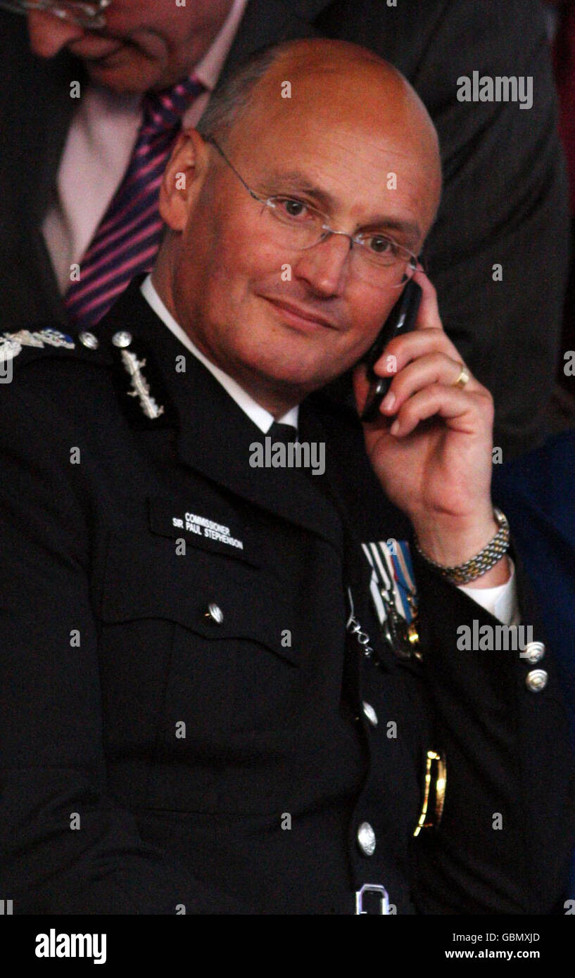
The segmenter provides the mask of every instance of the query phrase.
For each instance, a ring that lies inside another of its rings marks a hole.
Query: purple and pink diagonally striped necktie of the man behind
[[[172,89],[149,93],[129,166],[66,292],[70,323],[98,323],[136,275],[150,272],[163,236],[159,187],[182,115],[204,86],[192,76]]]

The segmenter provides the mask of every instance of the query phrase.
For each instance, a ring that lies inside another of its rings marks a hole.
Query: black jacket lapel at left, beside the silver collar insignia
[[[298,468],[250,465],[252,446],[259,443],[265,447],[265,434],[158,319],[140,292],[142,278],[123,293],[102,320],[98,334],[109,342],[119,330],[132,334],[129,348],[140,360],[144,355],[142,373],[164,414],[157,424],[146,422],[136,398],[123,397],[130,391],[130,378],[121,369],[118,397],[124,410],[134,423],[140,414],[146,427],[173,425],[177,454],[186,466],[244,500],[323,536],[339,549],[339,521],[332,508],[326,507],[322,493],[313,484],[315,479],[306,478]],[[186,370],[178,372],[176,358],[182,355]],[[114,356],[119,361],[121,351],[114,350]]]

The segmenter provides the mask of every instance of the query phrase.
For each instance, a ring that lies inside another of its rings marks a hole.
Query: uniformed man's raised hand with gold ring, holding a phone
[[[422,271],[416,275],[423,289],[416,329],[392,339],[376,361],[378,376],[395,376],[379,418],[364,424],[364,433],[376,476],[409,516],[424,553],[454,565],[498,529],[490,496],[493,399],[473,377],[464,389],[456,386],[462,360],[443,331],[435,289]],[[389,357],[396,371],[386,369]],[[361,410],[369,389],[364,366],[354,373],[354,388]],[[505,583],[508,576],[503,560],[481,583]]]

